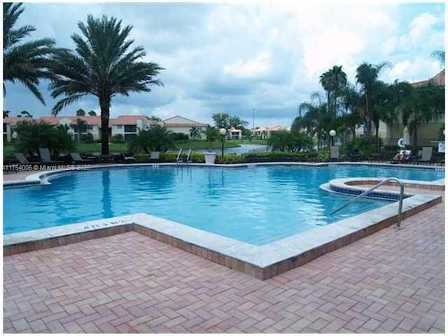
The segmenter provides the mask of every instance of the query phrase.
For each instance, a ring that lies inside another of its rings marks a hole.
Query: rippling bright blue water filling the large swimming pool
[[[344,177],[433,181],[444,172],[372,166],[125,167],[73,172],[50,186],[3,190],[3,233],[144,212],[261,245],[388,204],[319,186]],[[319,218],[319,219],[316,219]]]

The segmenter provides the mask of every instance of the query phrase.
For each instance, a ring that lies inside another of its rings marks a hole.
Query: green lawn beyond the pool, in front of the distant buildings
[[[266,144],[266,140],[228,140],[225,141],[224,147],[225,148],[235,148],[239,147],[240,144]],[[176,144],[176,149],[184,148],[184,149],[198,149],[198,148],[208,148],[207,141],[204,140],[188,140],[188,141],[181,141]],[[219,149],[221,148],[221,141],[215,141],[211,143],[212,149]],[[3,144],[3,158],[11,157],[13,156],[13,153],[15,152],[14,145],[12,144]],[[75,151],[80,153],[101,153],[101,144],[94,143],[94,144],[76,144]],[[109,145],[109,151],[111,153],[123,153],[127,151],[127,144],[110,144]]]

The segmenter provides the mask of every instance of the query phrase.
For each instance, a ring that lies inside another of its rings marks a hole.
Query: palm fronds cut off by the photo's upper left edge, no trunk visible
[[[3,94],[6,94],[5,82],[17,81],[28,87],[45,105],[37,87],[41,79],[51,78],[49,60],[59,49],[50,38],[21,43],[36,30],[32,25],[14,27],[23,10],[22,3],[3,3]]]

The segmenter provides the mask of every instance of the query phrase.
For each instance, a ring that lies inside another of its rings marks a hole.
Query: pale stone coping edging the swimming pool
[[[278,162],[272,163],[279,165]],[[271,165],[272,163],[269,162]],[[284,164],[282,163],[282,165]],[[290,165],[290,162],[286,164]],[[128,166],[130,165],[113,165],[113,167]],[[142,165],[137,166],[141,167]],[[246,167],[248,165],[233,166]],[[394,166],[396,167],[396,165]],[[108,165],[101,168],[105,167],[112,166]],[[229,167],[229,165],[213,165],[213,167]],[[65,172],[50,172],[50,174],[48,172],[40,172],[33,174],[27,182],[34,182],[37,178],[39,183],[49,183],[48,178],[50,176],[64,174]],[[338,179],[336,183],[342,183],[344,186],[348,186],[347,183],[350,182],[363,182],[368,184],[369,181],[372,182],[374,180],[374,178]],[[411,182],[414,185],[420,184],[417,181]],[[437,186],[437,188],[443,186],[444,188],[444,179],[421,184],[422,188],[428,188],[430,186]],[[351,188],[365,190],[362,187]],[[440,195],[409,195],[403,201],[402,218],[412,216],[440,202],[442,202]],[[200,255],[221,265],[251,274],[258,279],[269,279],[272,276],[303,265],[320,255],[350,244],[353,241],[395,223],[397,221],[397,208],[398,204],[394,202],[363,214],[346,218],[342,221],[323,226],[316,225],[316,229],[314,230],[302,232],[261,246],[223,237],[149,214],[132,214],[3,235],[3,255],[62,246],[87,239],[136,231],[142,235],[182,248],[185,251]],[[310,220],[313,220],[313,218],[310,218]]]

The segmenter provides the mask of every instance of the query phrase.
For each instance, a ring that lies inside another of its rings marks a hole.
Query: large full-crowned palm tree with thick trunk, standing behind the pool
[[[130,50],[133,40],[127,39],[131,26],[122,27],[116,18],[87,16],[87,24],[78,22],[82,36],[73,34],[75,51],[65,51],[54,57],[50,88],[52,97],[63,97],[52,113],[87,94],[96,96],[101,109],[102,154],[109,154],[109,113],[111,99],[118,94],[151,92],[152,85],[162,85],[155,77],[161,68],[153,62],[142,62],[144,48]]]

